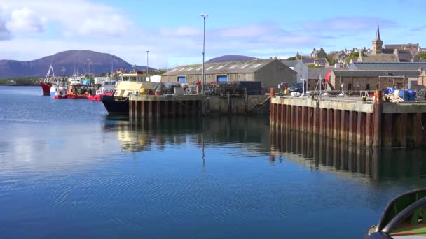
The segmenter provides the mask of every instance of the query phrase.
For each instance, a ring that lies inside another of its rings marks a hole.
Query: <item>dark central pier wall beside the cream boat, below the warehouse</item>
[[[202,115],[243,115],[268,113],[269,96],[175,96],[131,95],[129,116],[132,120],[148,118],[185,118]]]

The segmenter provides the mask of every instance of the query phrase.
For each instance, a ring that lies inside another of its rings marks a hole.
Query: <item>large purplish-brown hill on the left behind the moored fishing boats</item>
[[[90,73],[95,74],[109,73],[111,72],[111,67],[114,67],[114,71],[117,68],[125,68],[127,70],[132,68],[132,64],[108,53],[91,50],[68,50],[33,61],[0,60],[0,79],[44,77],[50,64],[53,66],[55,75],[62,75],[62,67],[65,75],[72,75],[74,68],[78,73],[88,73],[89,63]],[[145,70],[146,66],[136,66],[136,68],[137,70]],[[153,71],[155,69],[150,67],[149,70]]]

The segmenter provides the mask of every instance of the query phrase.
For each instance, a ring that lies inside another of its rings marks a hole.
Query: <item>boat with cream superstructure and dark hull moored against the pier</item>
[[[109,114],[128,114],[129,96],[140,94],[141,89],[152,89],[153,84],[141,71],[133,73],[120,73],[121,80],[117,82],[112,95],[103,94],[101,101]]]

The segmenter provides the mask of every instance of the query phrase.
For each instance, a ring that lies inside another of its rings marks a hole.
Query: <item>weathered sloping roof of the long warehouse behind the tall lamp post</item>
[[[221,73],[254,73],[275,59],[255,59],[252,61],[231,61],[220,63],[206,63],[205,74]],[[284,64],[283,64],[284,65]],[[163,75],[198,75],[202,74],[202,64],[177,66]]]

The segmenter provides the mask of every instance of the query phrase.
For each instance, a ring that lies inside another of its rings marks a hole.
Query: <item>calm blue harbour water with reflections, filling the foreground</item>
[[[134,124],[39,87],[0,87],[0,132],[0,238],[362,238],[426,186],[425,150],[257,117]]]

